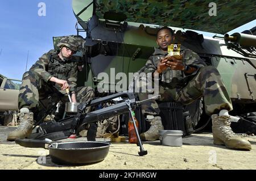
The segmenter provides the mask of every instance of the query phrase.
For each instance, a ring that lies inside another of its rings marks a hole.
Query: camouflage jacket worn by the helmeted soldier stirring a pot
[[[30,71],[38,74],[45,82],[50,83],[57,90],[60,90],[60,86],[55,82],[49,81],[51,77],[63,79],[68,82],[69,90],[76,91],[77,81],[77,64],[71,58],[68,61],[63,61],[58,56],[59,51],[50,50],[48,53],[44,53],[38,61],[30,68]]]

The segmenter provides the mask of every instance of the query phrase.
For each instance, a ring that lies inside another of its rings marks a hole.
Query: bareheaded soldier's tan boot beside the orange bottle
[[[150,129],[148,129],[148,131],[146,131],[144,133],[141,133],[139,135],[139,137],[141,137],[141,139],[144,141],[159,140],[158,131],[164,129],[161,117],[147,115],[146,120],[150,122]]]

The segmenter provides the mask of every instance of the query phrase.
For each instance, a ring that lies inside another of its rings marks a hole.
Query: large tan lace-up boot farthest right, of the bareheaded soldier
[[[212,115],[213,144],[225,145],[230,149],[250,150],[250,142],[237,136],[232,131],[230,124],[228,111],[221,110],[219,115]]]

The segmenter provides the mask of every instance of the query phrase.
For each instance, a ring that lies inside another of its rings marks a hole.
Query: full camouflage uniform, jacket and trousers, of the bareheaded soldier
[[[217,113],[222,109],[231,111],[233,109],[232,102],[218,70],[213,66],[205,66],[204,61],[192,50],[181,46],[180,53],[183,54],[184,64],[197,70],[192,74],[185,74],[184,71],[171,70],[170,68],[163,71],[159,83],[160,100],[181,102],[187,105],[203,96],[205,112],[208,115]],[[163,50],[155,48],[155,52],[146,62],[146,65],[139,70],[139,73],[153,73],[160,58],[167,56],[167,54]],[[141,86],[146,86],[145,82],[140,83]],[[147,93],[139,94],[141,100],[147,97]],[[158,115],[160,112],[155,101],[144,103],[142,111],[149,115]]]

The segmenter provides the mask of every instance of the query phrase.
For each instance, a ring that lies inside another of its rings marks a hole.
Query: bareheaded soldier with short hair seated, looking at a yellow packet
[[[233,109],[232,102],[218,70],[213,66],[206,66],[195,52],[182,45],[180,60],[167,56],[168,45],[174,42],[174,31],[171,28],[160,28],[156,35],[159,48],[155,48],[155,52],[138,73],[152,73],[153,80],[154,77],[159,77],[160,100],[187,105],[203,97],[205,112],[212,115],[213,143],[231,149],[250,150],[250,142],[238,137],[230,128],[228,111]],[[141,86],[146,86],[146,82],[140,83]],[[148,94],[140,92],[139,98],[147,99]],[[141,133],[140,137],[146,141],[158,140],[158,131],[163,129],[158,104],[155,101],[144,103],[142,112],[151,127],[147,132]]]

